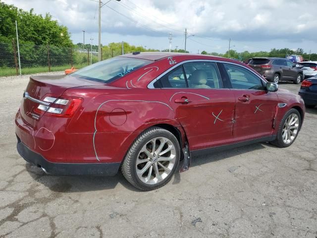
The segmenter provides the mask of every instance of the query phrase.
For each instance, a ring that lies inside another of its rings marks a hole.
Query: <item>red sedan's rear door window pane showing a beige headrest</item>
[[[190,88],[222,88],[217,65],[214,62],[183,64]]]

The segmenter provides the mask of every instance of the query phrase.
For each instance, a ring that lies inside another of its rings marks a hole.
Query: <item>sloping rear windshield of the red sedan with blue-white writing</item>
[[[79,69],[73,72],[71,76],[110,83],[151,62],[151,60],[116,57]]]

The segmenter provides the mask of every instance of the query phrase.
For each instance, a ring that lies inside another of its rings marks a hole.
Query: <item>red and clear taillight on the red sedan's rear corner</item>
[[[51,103],[50,106],[40,104],[34,111],[45,116],[52,117],[72,117],[79,106],[82,104],[83,99],[72,97],[54,97],[53,95],[47,96],[44,102]]]

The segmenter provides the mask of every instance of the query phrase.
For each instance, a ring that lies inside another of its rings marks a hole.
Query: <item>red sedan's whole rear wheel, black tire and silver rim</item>
[[[180,146],[176,137],[160,127],[142,132],[127,152],[121,171],[125,179],[141,190],[165,185],[178,167]]]

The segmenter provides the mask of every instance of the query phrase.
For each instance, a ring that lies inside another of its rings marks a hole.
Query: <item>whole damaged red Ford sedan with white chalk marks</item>
[[[290,146],[300,96],[235,60],[133,53],[70,75],[32,76],[15,118],[17,150],[52,175],[167,183],[182,160],[255,142]]]

